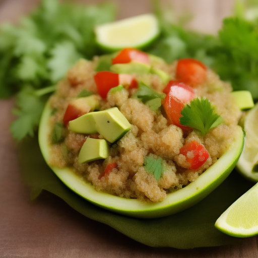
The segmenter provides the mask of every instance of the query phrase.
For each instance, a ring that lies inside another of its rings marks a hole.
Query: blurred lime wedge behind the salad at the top
[[[106,51],[125,47],[144,48],[159,35],[157,18],[152,14],[135,16],[95,28],[96,41]]]

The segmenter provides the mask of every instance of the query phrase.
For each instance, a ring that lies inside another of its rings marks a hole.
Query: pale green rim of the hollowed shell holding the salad
[[[39,146],[47,163],[49,160],[50,134],[49,117],[51,109],[47,103],[39,124]],[[194,182],[175,192],[168,193],[161,203],[143,203],[136,199],[125,199],[96,191],[95,188],[76,175],[71,168],[49,166],[59,179],[87,201],[104,209],[138,218],[158,218],[180,212],[204,199],[235,167],[242,152],[244,134],[239,126],[230,149],[220,159],[200,175]]]

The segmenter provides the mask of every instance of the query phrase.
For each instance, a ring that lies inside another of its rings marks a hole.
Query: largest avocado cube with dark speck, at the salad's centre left
[[[98,133],[110,143],[122,138],[131,130],[130,122],[117,107],[94,112],[94,119]]]

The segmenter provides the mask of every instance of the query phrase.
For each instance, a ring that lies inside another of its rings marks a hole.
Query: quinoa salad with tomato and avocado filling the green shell
[[[229,83],[194,59],[167,64],[137,49],[80,59],[49,100],[48,164],[72,168],[96,191],[162,202],[230,148],[241,117],[231,92]],[[211,107],[208,118],[217,115],[205,132],[191,126],[195,117],[186,121],[194,104]],[[122,120],[114,118],[118,136],[103,125],[106,111]],[[103,115],[100,121],[95,114]],[[83,117],[95,119],[97,129],[77,130]],[[97,147],[85,147],[89,140]],[[95,158],[85,157],[95,151]]]

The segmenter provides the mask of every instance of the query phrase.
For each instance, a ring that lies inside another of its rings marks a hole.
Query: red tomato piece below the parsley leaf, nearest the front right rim
[[[200,168],[209,158],[209,152],[197,141],[191,141],[180,149],[180,154],[186,157],[186,161],[190,163],[190,169]]]

